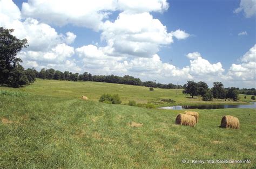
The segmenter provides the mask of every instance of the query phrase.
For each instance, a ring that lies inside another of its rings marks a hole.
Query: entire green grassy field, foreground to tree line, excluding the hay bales
[[[159,98],[201,102],[176,95],[175,90],[151,92],[137,86],[46,80],[22,89],[0,90],[12,90],[0,94],[1,168],[256,167],[254,109],[196,110],[199,123],[192,128],[174,124],[181,110],[95,102],[102,93],[118,93],[124,102]],[[81,95],[91,100],[78,99]],[[238,117],[241,128],[219,128],[224,115]],[[190,163],[183,164],[182,159]],[[205,163],[248,159],[251,163],[192,164],[198,159]]]

